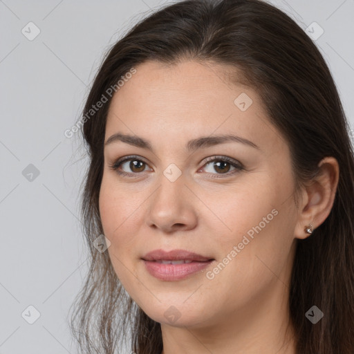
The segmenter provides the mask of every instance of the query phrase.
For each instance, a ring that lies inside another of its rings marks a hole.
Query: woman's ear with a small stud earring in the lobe
[[[306,239],[310,236],[304,231],[306,225],[319,227],[333,207],[339,180],[339,165],[335,158],[326,157],[319,162],[319,173],[302,192],[299,215],[295,226],[295,238]]]

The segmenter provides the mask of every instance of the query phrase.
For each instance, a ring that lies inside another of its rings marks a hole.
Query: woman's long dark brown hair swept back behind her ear
[[[83,115],[131,68],[147,60],[176,64],[181,59],[232,65],[242,73],[243,82],[259,93],[270,122],[288,142],[295,192],[317,174],[322,158],[333,156],[339,162],[339,183],[328,218],[308,239],[297,240],[290,320],[297,354],[353,354],[353,147],[324,58],[295,21],[263,1],[180,1],[142,19],[109,50]],[[103,234],[98,198],[110,102],[111,98],[82,125],[90,158],[82,219],[91,266],[74,304],[71,329],[85,354],[120,353],[122,339],[129,336],[135,353],[160,354],[160,324],[122,288],[108,252],[93,247]],[[296,201],[296,193],[294,197]],[[313,305],[324,313],[317,324],[305,316]]]

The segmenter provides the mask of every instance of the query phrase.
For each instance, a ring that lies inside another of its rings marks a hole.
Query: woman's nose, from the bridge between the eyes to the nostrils
[[[183,174],[174,182],[161,174],[159,182],[156,192],[148,199],[147,225],[166,233],[196,227],[198,198],[186,185]]]

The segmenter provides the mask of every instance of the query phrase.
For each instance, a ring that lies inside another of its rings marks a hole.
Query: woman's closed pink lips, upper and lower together
[[[181,264],[164,264],[158,261],[191,261]],[[210,257],[204,257],[201,254],[188,252],[186,250],[172,250],[169,252],[155,250],[142,257],[147,271],[157,279],[165,281],[178,281],[185,279],[190,275],[200,272],[214,261]]]

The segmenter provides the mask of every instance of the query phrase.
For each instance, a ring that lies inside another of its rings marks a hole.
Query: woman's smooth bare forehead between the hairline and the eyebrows
[[[261,145],[280,134],[265,115],[252,87],[233,82],[235,68],[193,61],[145,62],[113,95],[106,138],[117,131],[180,139],[237,133]],[[281,143],[281,142],[278,142]]]

